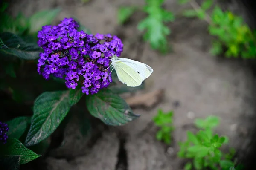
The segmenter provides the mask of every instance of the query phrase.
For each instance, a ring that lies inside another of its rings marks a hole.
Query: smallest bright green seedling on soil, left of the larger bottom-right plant
[[[157,131],[156,138],[166,144],[171,144],[171,133],[174,130],[172,116],[172,111],[164,113],[163,110],[159,109],[157,115],[153,118],[156,126],[160,127],[160,130]]]

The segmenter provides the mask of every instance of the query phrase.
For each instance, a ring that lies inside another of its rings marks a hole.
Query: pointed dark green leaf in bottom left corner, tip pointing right
[[[0,150],[0,156],[20,156],[20,164],[26,164],[41,156],[27,149],[15,138],[9,138],[6,144],[0,144]]]

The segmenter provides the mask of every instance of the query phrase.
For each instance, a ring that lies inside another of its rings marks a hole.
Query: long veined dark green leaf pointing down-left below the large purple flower
[[[34,115],[25,145],[32,146],[47,138],[70,110],[69,90],[44,92],[35,100]]]

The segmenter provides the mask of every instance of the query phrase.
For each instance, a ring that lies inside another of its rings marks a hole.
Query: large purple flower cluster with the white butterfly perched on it
[[[50,75],[65,78],[71,89],[80,83],[83,93],[95,94],[112,82],[109,57],[111,53],[120,56],[123,44],[116,36],[88,35],[78,27],[73,18],[64,18],[58,26],[42,27],[38,46],[44,53],[38,59],[38,73],[45,79]]]

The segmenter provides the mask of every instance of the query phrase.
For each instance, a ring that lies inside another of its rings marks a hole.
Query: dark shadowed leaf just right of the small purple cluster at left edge
[[[6,124],[8,124],[9,127],[8,137],[19,139],[20,136],[25,132],[26,128],[29,126],[30,120],[30,117],[22,116],[7,121]]]

